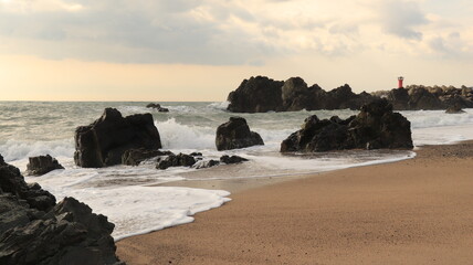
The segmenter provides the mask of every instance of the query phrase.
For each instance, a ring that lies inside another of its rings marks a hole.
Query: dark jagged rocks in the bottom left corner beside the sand
[[[73,198],[56,204],[0,156],[0,264],[124,264],[113,230],[106,216]]]

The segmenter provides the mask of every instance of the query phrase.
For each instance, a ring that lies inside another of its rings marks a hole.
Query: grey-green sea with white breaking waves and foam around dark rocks
[[[145,102],[0,102],[0,153],[22,172],[28,158],[51,155],[65,167],[42,177],[25,177],[38,182],[57,200],[74,197],[95,213],[108,216],[116,241],[193,221],[197,212],[221,206],[231,200],[223,190],[159,187],[174,181],[209,181],[253,178],[294,178],[324,171],[410,159],[424,145],[445,145],[473,139],[473,109],[463,114],[443,110],[400,112],[411,121],[414,150],[354,150],[313,155],[278,152],[281,141],[298,130],[311,115],[319,118],[347,118],[358,112],[315,110],[261,114],[227,112],[227,102],[162,102],[169,113],[146,108]],[[117,108],[124,116],[151,113],[162,149],[175,153],[202,152],[206,160],[222,155],[249,159],[240,165],[208,169],[170,168],[158,170],[153,160],[137,167],[115,166],[84,169],[74,165],[74,131],[101,117],[104,108]],[[217,127],[231,116],[244,117],[263,138],[264,146],[218,151]],[[170,187],[168,187],[170,186]]]

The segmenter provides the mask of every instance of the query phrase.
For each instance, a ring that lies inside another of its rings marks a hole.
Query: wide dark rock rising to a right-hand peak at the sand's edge
[[[343,149],[412,149],[410,123],[392,113],[387,99],[364,105],[357,116],[305,119],[302,129],[281,144],[281,152],[317,152]]]

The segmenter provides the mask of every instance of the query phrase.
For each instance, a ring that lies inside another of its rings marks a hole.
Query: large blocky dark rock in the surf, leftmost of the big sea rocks
[[[129,149],[161,148],[151,114],[122,117],[115,108],[106,108],[101,118],[75,130],[74,161],[83,168],[102,168],[122,163]]]

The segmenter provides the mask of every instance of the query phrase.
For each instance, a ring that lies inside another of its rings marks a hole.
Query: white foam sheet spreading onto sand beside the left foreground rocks
[[[108,220],[115,224],[112,234],[115,241],[192,222],[193,214],[230,201],[227,198],[230,193],[219,190],[143,186],[83,188],[81,186],[84,181],[97,176],[98,173],[95,173],[71,182],[65,176],[52,172],[40,178],[27,178],[27,181],[39,182],[59,200],[64,197],[74,197],[88,204],[95,213],[108,216]]]

